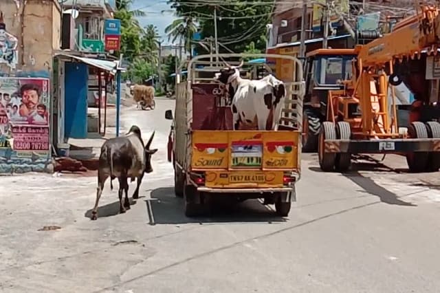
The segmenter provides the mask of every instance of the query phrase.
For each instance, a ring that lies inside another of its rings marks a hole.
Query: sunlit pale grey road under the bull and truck
[[[401,158],[386,159],[392,171],[322,173],[305,154],[288,218],[251,201],[188,219],[166,161],[172,108],[157,98],[154,111],[122,111],[124,129],[155,130],[159,148],[143,197],[125,214],[107,184],[100,217],[89,219],[96,177],[0,177],[1,292],[439,291],[438,174],[400,172]]]

